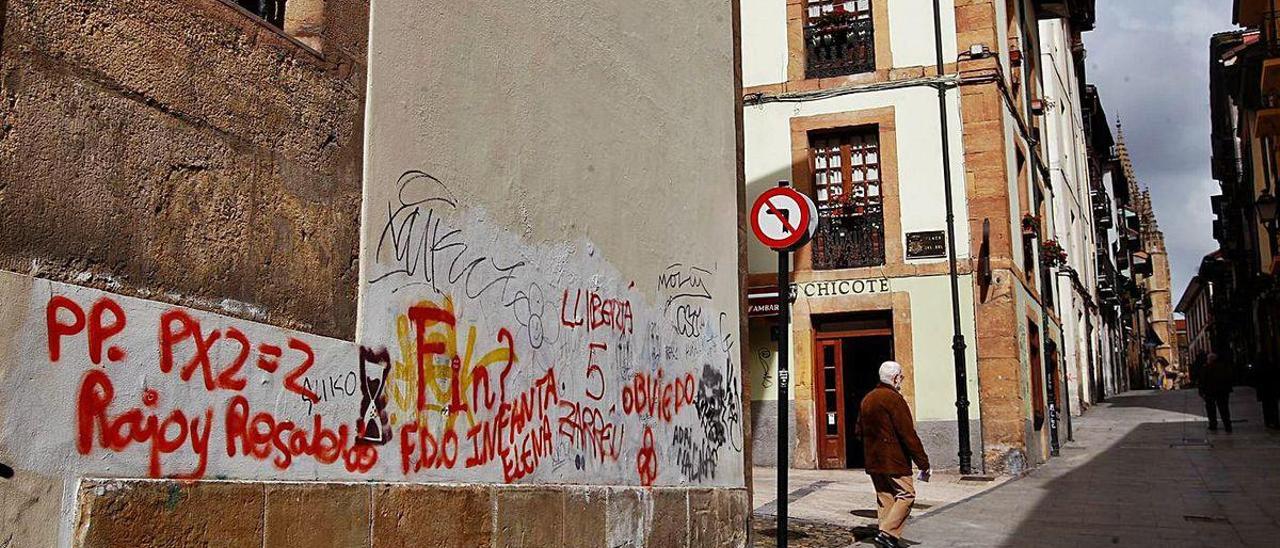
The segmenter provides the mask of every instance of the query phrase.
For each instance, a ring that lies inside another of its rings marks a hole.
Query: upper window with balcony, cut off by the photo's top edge
[[[872,0],[806,0],[805,78],[876,70]]]

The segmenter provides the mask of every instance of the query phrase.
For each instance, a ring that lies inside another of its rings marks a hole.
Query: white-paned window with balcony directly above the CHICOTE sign
[[[809,164],[818,202],[813,268],[884,264],[884,198],[877,127],[812,134]]]

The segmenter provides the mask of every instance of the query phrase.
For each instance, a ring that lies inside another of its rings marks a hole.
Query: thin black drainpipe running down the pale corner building
[[[942,60],[942,6],[933,0],[933,46],[937,54],[937,73],[943,73]],[[960,328],[960,277],[956,273],[956,222],[951,202],[951,131],[947,128],[947,87],[938,83],[938,124],[942,128],[942,189],[947,204],[947,261],[951,278],[951,352],[956,378],[956,431],[960,474],[973,474],[973,451],[969,448],[969,374],[965,364],[964,332]]]

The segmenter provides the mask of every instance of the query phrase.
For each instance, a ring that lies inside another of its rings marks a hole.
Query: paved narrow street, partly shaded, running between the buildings
[[[972,498],[916,512],[905,539],[922,547],[1276,545],[1280,476],[1272,471],[1280,434],[1263,429],[1251,389],[1236,389],[1231,410],[1235,433],[1215,434],[1196,391],[1114,397],[1074,421],[1075,440],[1061,457]],[[803,508],[806,498],[794,504]],[[765,528],[772,520],[758,516],[756,545],[773,544],[762,538]],[[865,538],[868,528],[805,521],[797,529],[806,538],[795,545],[836,547]]]

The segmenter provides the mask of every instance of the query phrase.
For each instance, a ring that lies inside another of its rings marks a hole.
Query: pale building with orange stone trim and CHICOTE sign
[[[1066,183],[1051,165],[1079,161],[1076,128],[1066,125],[1079,120],[1083,78],[1053,82],[1055,108],[1073,113],[1050,131],[1043,67],[1051,51],[1074,67],[1071,44],[1092,27],[1093,3],[943,0],[937,17],[927,0],[742,9],[748,198],[792,181],[820,219],[794,257],[791,333],[771,332],[777,260],[749,250],[754,461],[777,463],[776,341],[790,337],[794,392],[782,399],[794,407],[794,466],[860,466],[856,405],[887,359],[904,366],[904,396],[940,467],[957,466],[961,424],[975,469],[1043,462],[1065,440],[1059,410],[1068,403],[1056,305],[1064,270],[1061,254],[1046,252],[1069,223],[1053,202]],[[1041,23],[1056,19],[1068,24],[1047,28],[1065,46],[1050,47]],[[1070,145],[1051,157],[1048,134]],[[1082,173],[1070,184],[1088,192]],[[1080,262],[1092,260],[1087,241]],[[1062,310],[1079,321],[1079,307]],[[1073,359],[1088,355],[1080,330],[1070,335]]]

